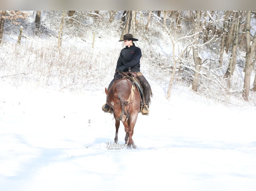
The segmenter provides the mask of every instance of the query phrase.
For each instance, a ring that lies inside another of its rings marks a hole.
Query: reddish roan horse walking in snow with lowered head
[[[114,82],[109,90],[105,88],[105,93],[107,95],[107,102],[113,109],[116,121],[115,143],[118,142],[118,129],[120,121],[122,121],[126,132],[124,140],[127,148],[131,149],[131,146],[136,148],[137,146],[132,139],[132,135],[141,106],[141,96],[137,86],[134,81],[132,82],[128,78],[121,78]]]

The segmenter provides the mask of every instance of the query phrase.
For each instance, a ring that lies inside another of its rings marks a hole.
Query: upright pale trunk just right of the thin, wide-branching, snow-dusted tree
[[[195,24],[194,33],[198,33],[198,34],[196,34],[194,37],[194,39],[195,39],[194,45],[198,45],[198,41],[199,41],[200,19],[201,19],[201,12],[196,11],[196,24]],[[201,64],[202,64],[202,60],[198,55],[198,46],[193,46],[193,58],[194,58],[194,62],[195,62],[196,71],[194,73],[194,78],[193,78],[193,82],[192,82],[192,90],[196,92],[197,88],[198,88],[198,81],[199,81],[199,73],[198,72],[200,72],[200,68],[201,68]]]

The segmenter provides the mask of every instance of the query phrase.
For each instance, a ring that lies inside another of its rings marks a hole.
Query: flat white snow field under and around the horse
[[[255,108],[226,106],[188,88],[170,100],[157,83],[139,114],[137,149],[109,150],[113,115],[102,91],[1,85],[0,187],[45,190],[255,190]],[[124,144],[120,125],[119,143]]]

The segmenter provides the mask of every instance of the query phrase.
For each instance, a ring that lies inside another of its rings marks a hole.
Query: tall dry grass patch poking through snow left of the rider
[[[35,88],[54,86],[59,90],[82,91],[88,83],[98,88],[104,84],[105,75],[112,76],[116,57],[111,51],[100,54],[99,47],[88,48],[81,42],[79,46],[75,42],[58,50],[54,40],[36,38],[22,45],[3,43],[1,79],[16,86],[28,84]]]

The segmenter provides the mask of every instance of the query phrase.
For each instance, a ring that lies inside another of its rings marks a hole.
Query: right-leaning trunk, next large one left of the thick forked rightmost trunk
[[[236,13],[236,24],[235,24],[235,39],[232,45],[232,51],[229,61],[228,69],[224,75],[224,79],[228,79],[228,86],[230,86],[230,79],[233,75],[236,66],[236,57],[237,57],[237,44],[238,44],[238,34],[239,34],[239,12]]]

